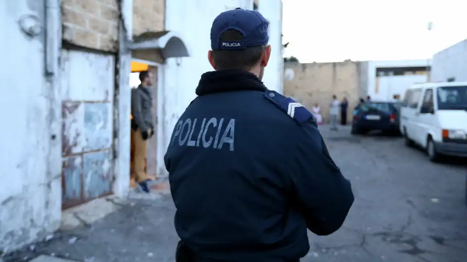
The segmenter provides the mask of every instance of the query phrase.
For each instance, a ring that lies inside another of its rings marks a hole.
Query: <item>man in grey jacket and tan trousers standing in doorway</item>
[[[152,94],[149,88],[151,74],[148,71],[140,73],[141,84],[131,92],[131,139],[134,142],[134,174],[141,189],[149,193],[148,176],[145,171],[147,139],[154,133],[152,115]]]

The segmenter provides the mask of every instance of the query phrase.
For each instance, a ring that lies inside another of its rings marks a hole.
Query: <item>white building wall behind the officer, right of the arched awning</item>
[[[274,0],[276,1],[276,0]],[[280,1],[278,1],[280,2]],[[269,4],[269,2],[268,2]],[[260,4],[261,6],[261,4]],[[265,4],[265,6],[267,6]],[[184,112],[189,103],[196,97],[195,89],[198,85],[201,74],[212,71],[213,68],[208,62],[207,54],[211,49],[210,31],[214,18],[221,12],[237,7],[252,9],[253,0],[170,0],[165,7],[165,28],[168,31],[180,33],[183,41],[187,45],[190,57],[167,59],[164,70],[163,90],[160,91],[158,103],[162,104],[162,110],[158,115],[162,121],[162,132],[158,135],[159,154],[158,165],[161,175],[167,175],[163,162],[163,155],[170,141],[170,136],[175,123]],[[274,8],[278,8],[278,3],[272,3],[266,18],[273,19],[273,14],[280,14]],[[269,16],[269,17],[268,17]],[[196,21],[196,22],[194,22]],[[187,26],[190,25],[190,26]],[[275,20],[271,27],[271,45],[282,44],[279,30],[279,20]],[[275,35],[278,34],[278,35]],[[276,43],[277,42],[277,43]],[[271,55],[268,72],[268,87],[275,87],[281,91],[282,80],[273,79],[274,75],[282,75],[281,65],[278,57],[282,59],[282,51],[276,47],[276,51]]]

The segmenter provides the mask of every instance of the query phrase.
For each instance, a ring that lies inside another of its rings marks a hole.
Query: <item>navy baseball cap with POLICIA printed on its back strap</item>
[[[269,22],[257,11],[241,8],[222,12],[211,27],[211,49],[245,49],[268,44]],[[243,35],[240,41],[222,41],[220,35],[227,30]]]

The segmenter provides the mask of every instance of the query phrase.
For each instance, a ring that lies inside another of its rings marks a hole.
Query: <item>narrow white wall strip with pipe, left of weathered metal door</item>
[[[47,231],[54,231],[60,226],[61,214],[61,174],[62,174],[62,125],[60,95],[59,59],[62,44],[61,0],[45,0],[45,45],[44,89],[47,99],[47,124],[49,128],[49,148],[47,156],[47,172],[44,186],[45,192],[45,225]],[[54,219],[52,221],[52,218]]]

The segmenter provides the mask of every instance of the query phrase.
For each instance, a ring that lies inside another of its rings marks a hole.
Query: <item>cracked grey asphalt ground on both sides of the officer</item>
[[[398,137],[320,129],[356,199],[336,233],[309,233],[302,262],[467,261],[465,159],[433,164]],[[53,254],[83,262],[174,262],[175,208],[169,195],[151,196],[129,199],[103,220],[57,232],[4,261]]]

